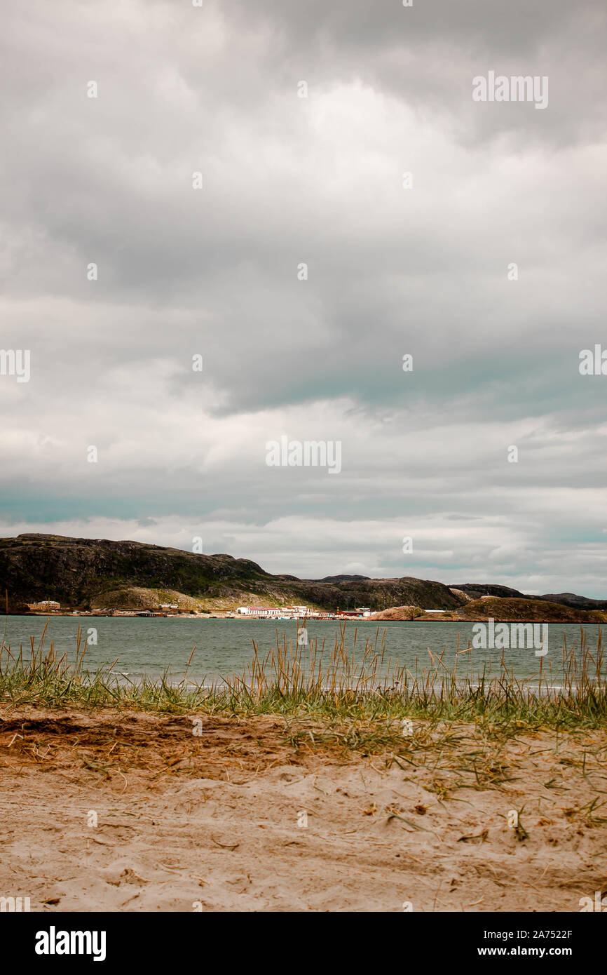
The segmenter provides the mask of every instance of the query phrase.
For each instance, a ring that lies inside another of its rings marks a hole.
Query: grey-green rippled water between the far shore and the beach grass
[[[9,616],[1,624],[2,631],[6,624],[5,643],[11,651],[19,652],[19,643],[23,650],[29,652],[30,637],[34,638],[37,646],[42,636],[46,618],[42,616]],[[281,639],[286,637],[294,644],[296,641],[295,620],[247,620],[247,619],[180,619],[180,618],[133,618],[112,616],[52,616],[49,620],[45,648],[50,648],[51,642],[60,653],[66,651],[69,660],[73,660],[76,648],[78,625],[83,629],[83,643],[87,639],[90,628],[96,630],[97,643],[89,644],[85,656],[89,670],[111,664],[116,657],[118,663],[115,671],[128,675],[135,680],[142,674],[158,677],[167,669],[170,671],[171,681],[179,681],[184,674],[188,658],[194,646],[196,651],[188,678],[203,683],[231,674],[236,671],[242,673],[243,666],[251,659],[252,641],[259,643],[259,653],[266,653],[272,645],[276,645],[277,629]],[[343,624],[342,624],[343,625]],[[446,648],[443,662],[449,669],[455,662],[457,640],[459,635],[460,649],[468,645],[473,638],[473,623],[429,623],[429,622],[384,622],[380,624],[381,635],[386,634],[386,659],[392,657],[400,665],[406,665],[413,672],[416,664],[418,672],[427,668],[431,662],[428,648],[433,653],[440,653]],[[378,629],[377,622],[360,621],[349,622],[346,626],[346,645],[352,649],[357,629],[357,659],[361,657],[365,639],[375,640]],[[588,647],[594,650],[597,643],[599,628],[597,625],[585,627]],[[308,624],[309,638],[318,638],[319,645],[325,641],[325,653],[339,634],[339,624],[334,620],[311,621]],[[551,673],[554,683],[562,664],[562,647],[566,639],[567,646],[580,646],[580,627],[577,625],[550,623],[549,652],[544,657],[545,674]],[[474,649],[473,671],[481,671],[486,665],[492,674],[500,672],[499,649]],[[512,668],[514,676],[530,678],[537,673],[539,659],[533,649],[511,649],[504,651],[505,659]],[[462,675],[466,672],[469,654],[459,657],[458,671]]]

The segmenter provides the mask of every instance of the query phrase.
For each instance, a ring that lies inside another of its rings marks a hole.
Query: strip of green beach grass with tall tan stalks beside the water
[[[585,631],[580,643],[564,643],[557,675],[544,657],[537,673],[517,678],[502,656],[499,671],[474,670],[470,645],[456,648],[447,668],[445,650],[429,650],[429,661],[411,671],[386,658],[386,633],[358,643],[356,627],[340,624],[335,641],[298,645],[277,632],[276,643],[260,652],[253,641],[250,661],[241,674],[210,683],[185,676],[178,683],[169,672],[160,678],[131,681],[115,673],[118,661],[95,671],[85,667],[86,642],[78,628],[75,660],[45,647],[46,627],[38,645],[19,652],[0,647],[0,704],[51,709],[118,708],[178,715],[280,715],[325,722],[329,734],[339,725],[347,747],[363,749],[365,735],[386,745],[406,734],[406,721],[479,722],[498,735],[521,729],[578,730],[607,726],[606,661],[599,629],[590,649]],[[344,726],[350,732],[343,731]],[[331,730],[331,728],[333,730]],[[404,728],[404,731],[403,731]],[[348,734],[350,738],[348,738]],[[383,739],[382,739],[383,740]]]

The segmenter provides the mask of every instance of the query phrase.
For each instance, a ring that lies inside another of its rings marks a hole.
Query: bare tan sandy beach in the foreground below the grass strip
[[[0,719],[0,894],[32,911],[575,912],[607,888],[605,731],[420,721],[365,754],[363,727],[353,749],[282,717]]]

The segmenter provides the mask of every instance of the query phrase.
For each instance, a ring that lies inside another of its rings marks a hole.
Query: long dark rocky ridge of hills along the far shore
[[[368,606],[373,611],[416,606],[466,614],[474,612],[474,603],[487,596],[497,603],[549,599],[527,597],[506,586],[448,586],[411,576],[299,579],[272,575],[255,562],[231,555],[199,555],[141,542],[37,533],[0,539],[2,604],[5,591],[10,612],[26,611],[29,603],[54,600],[61,609],[140,609],[176,604],[181,610],[216,611],[243,604],[306,604],[328,610]],[[551,596],[550,602],[578,610],[584,618],[585,610],[607,608],[607,601],[587,600],[571,593],[563,594],[562,599]]]

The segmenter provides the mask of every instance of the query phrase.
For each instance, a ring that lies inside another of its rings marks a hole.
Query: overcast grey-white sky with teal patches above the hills
[[[0,534],[607,596],[603,0],[4,8]]]

